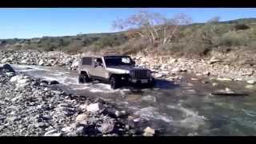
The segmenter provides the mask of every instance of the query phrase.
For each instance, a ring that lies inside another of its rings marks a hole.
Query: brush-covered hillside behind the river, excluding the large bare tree
[[[171,54],[174,57],[219,57],[237,64],[256,63],[256,18],[226,22],[193,23],[181,26],[178,38],[167,45],[151,46],[134,31],[109,34],[78,34],[65,37],[2,39],[0,49],[62,50],[66,53],[109,52],[133,54],[146,50],[151,54]]]

